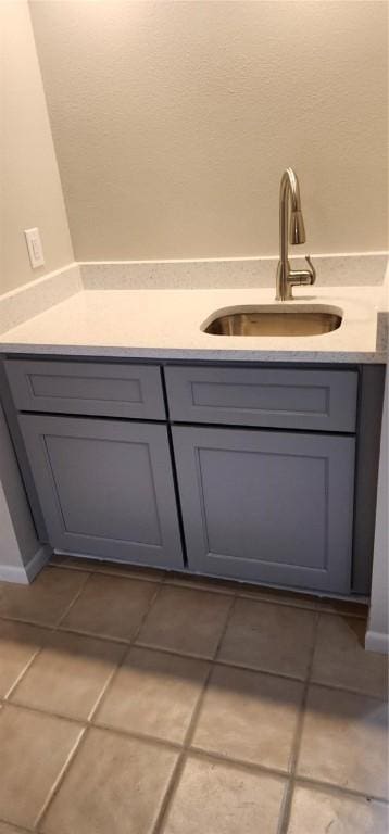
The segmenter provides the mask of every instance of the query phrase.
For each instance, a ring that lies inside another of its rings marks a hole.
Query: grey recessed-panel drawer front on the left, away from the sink
[[[8,359],[18,410],[165,419],[156,366]]]

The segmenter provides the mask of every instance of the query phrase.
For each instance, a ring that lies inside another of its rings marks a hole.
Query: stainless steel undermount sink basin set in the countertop
[[[337,330],[342,321],[337,307],[310,309],[277,306],[218,311],[201,328],[212,336],[318,336]]]

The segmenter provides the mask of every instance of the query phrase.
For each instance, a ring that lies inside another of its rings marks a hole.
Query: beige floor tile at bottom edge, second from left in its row
[[[151,834],[176,754],[91,730],[42,823],[46,834]]]

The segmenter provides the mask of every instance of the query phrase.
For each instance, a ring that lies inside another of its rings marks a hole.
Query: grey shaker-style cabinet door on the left
[[[183,567],[165,426],[18,419],[54,548]]]

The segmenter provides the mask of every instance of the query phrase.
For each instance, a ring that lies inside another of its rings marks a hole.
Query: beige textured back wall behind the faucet
[[[386,3],[30,2],[76,256],[386,248]]]

